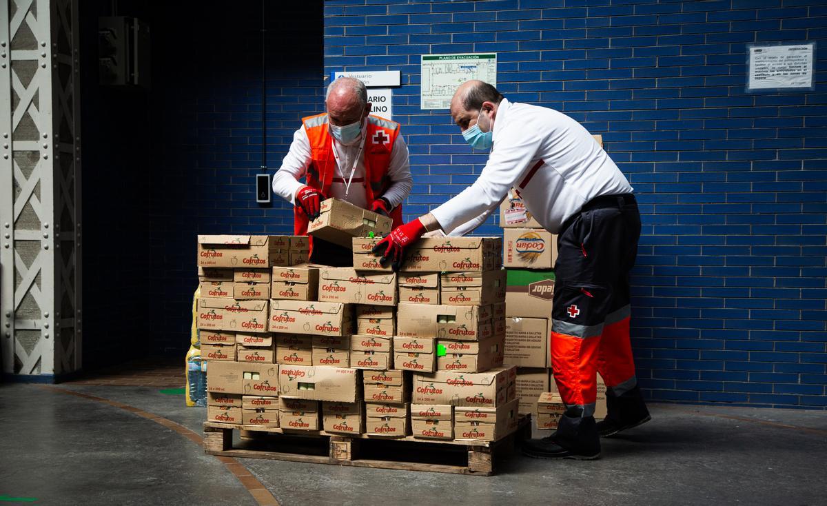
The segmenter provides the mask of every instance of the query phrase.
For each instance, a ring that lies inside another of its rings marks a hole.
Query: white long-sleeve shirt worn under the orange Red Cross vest
[[[336,150],[341,166],[337,164],[336,174],[333,174],[331,194],[327,197],[340,198],[360,208],[369,209],[371,203],[367,202],[363,185],[365,180],[364,151],[361,150],[361,146],[365,142],[366,131],[367,118],[362,124],[360,136],[355,141],[342,145],[335,139],[332,140],[333,149]],[[359,155],[359,160],[356,162],[356,170],[353,173],[350,191],[347,192],[346,182],[351,179],[351,169],[353,169],[357,155]],[[293,143],[290,144],[290,150],[281,162],[281,168],[273,176],[273,192],[295,204],[296,192],[304,186],[304,183],[300,183],[299,179],[304,178],[312,160],[307,131],[304,130],[304,126],[300,126],[299,130],[293,134]],[[401,135],[396,136],[394,146],[390,150],[388,176],[391,180],[388,190],[381,195],[377,195],[377,197],[387,198],[390,206],[395,208],[408,197],[408,193],[414,187],[414,178],[411,177],[408,158],[408,146],[405,145]]]

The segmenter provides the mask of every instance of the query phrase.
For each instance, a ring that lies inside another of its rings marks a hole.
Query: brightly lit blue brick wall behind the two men
[[[324,20],[325,74],[402,73],[409,217],[486,158],[447,111],[420,110],[420,55],[496,52],[504,95],[601,134],[638,194],[633,344],[648,396],[827,406],[824,2],[327,0]],[[746,45],[775,41],[818,41],[814,92],[744,92]]]

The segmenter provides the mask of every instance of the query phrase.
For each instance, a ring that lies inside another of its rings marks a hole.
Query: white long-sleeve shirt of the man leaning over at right
[[[494,146],[480,177],[431,214],[448,235],[462,235],[485,222],[512,187],[552,233],[592,198],[632,192],[626,176],[580,123],[547,107],[503,99],[494,120]]]

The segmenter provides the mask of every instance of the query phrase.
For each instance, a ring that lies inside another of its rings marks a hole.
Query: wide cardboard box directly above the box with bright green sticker
[[[476,340],[492,335],[490,306],[400,303],[396,334],[400,337],[449,337]]]

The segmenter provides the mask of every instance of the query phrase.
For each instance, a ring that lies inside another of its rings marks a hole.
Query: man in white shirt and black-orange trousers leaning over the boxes
[[[490,84],[457,89],[451,115],[462,136],[490,155],[479,179],[457,197],[395,228],[375,247],[394,269],[426,232],[461,235],[499,208],[512,187],[557,233],[551,354],[566,412],[551,437],[523,446],[538,458],[595,459],[600,436],[648,422],[629,344],[629,270],[640,236],[632,187],[583,126],[561,112],[510,103]],[[608,415],[595,422],[595,373],[605,380]]]

